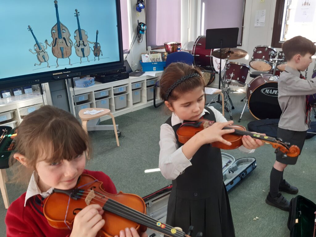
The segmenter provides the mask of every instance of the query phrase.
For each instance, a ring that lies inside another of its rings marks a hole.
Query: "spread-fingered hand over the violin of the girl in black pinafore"
[[[224,127],[228,125],[232,125],[234,121],[228,121],[228,122],[216,122],[210,127],[203,129],[200,131],[199,134],[201,136],[203,144],[208,144],[212,142],[221,142],[228,146],[230,146],[232,143],[226,141],[222,136],[227,133],[232,133],[235,130],[234,129],[223,129]]]

